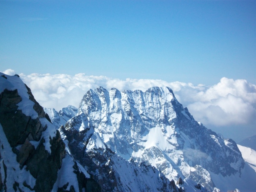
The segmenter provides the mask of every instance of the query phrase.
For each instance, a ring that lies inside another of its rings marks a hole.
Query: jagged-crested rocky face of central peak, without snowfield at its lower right
[[[236,169],[227,162],[220,163],[219,160],[211,159],[209,151],[212,150],[216,155],[218,150],[226,150],[228,153],[237,151],[237,148],[231,147],[235,145],[234,141],[229,140],[229,145],[226,145],[215,132],[197,123],[188,109],[183,108],[177,101],[169,87],[152,87],[145,92],[124,90],[121,93],[114,88],[109,92],[104,88],[97,89],[104,92],[94,91],[91,95],[87,94],[84,97],[87,99],[83,99],[81,106],[81,111],[88,116],[90,126],[95,127],[97,132],[91,139],[101,137],[107,147],[123,158],[132,157],[137,161],[146,161],[165,172],[167,178],[179,176],[184,179],[185,175],[190,174],[183,170],[184,166],[198,165],[198,157],[190,158],[191,155],[188,154],[205,157],[200,159],[199,165],[204,165],[202,169],[216,174],[235,174],[243,168],[241,155],[232,157]],[[224,161],[224,156],[226,155],[219,158]],[[154,158],[159,159],[159,162],[153,161]],[[177,166],[179,161],[184,161],[183,165]],[[223,167],[225,171],[217,169],[213,166],[215,164]]]

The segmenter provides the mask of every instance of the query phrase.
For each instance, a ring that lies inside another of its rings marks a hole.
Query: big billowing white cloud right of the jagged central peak
[[[208,124],[245,124],[255,118],[256,86],[244,79],[224,77],[220,83],[194,93],[190,99],[187,103],[190,112]]]

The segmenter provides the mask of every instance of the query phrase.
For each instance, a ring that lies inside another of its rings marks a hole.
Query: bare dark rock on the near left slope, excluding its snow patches
[[[28,90],[30,98],[35,101]],[[8,91],[5,89],[0,95],[0,123],[3,127],[8,142],[13,152],[17,154],[17,161],[20,166],[27,165],[27,170],[36,178],[35,191],[50,191],[56,181],[57,171],[61,166],[61,160],[65,156],[65,144],[57,132],[56,137],[52,138],[51,154],[46,151],[41,139],[41,134],[46,130],[39,118],[44,118],[45,113],[42,107],[36,102],[34,109],[38,113],[38,118],[32,119],[17,110],[22,98],[18,95],[17,89]],[[40,141],[35,147],[29,141]],[[20,149],[16,149],[17,145],[22,145]],[[18,187],[18,186],[16,186]]]

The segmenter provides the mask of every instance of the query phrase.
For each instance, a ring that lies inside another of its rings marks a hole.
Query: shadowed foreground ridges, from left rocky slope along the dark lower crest
[[[175,184],[154,167],[126,161],[106,146],[96,149],[97,152],[83,153],[88,166],[81,166],[70,153],[74,149],[75,155],[81,152],[80,146],[65,146],[31,90],[18,76],[0,75],[0,191],[205,191],[192,180],[180,179]],[[67,120],[75,110],[69,106],[65,114],[61,111],[51,117]],[[70,121],[74,125],[75,117]],[[64,139],[67,144],[80,139],[88,142],[93,137],[89,133],[94,130],[87,126],[87,118],[81,120],[86,127],[80,127],[77,135],[72,126],[62,128],[66,133],[61,132],[63,138],[73,137]],[[94,175],[89,175],[85,168]]]

